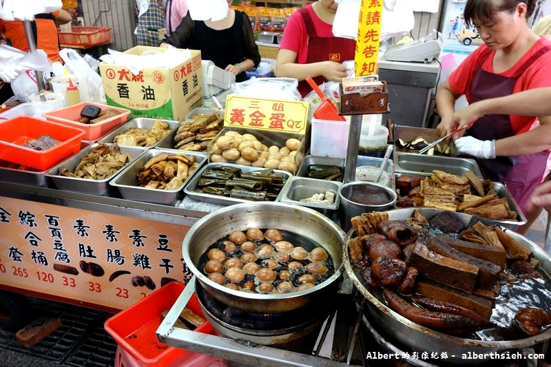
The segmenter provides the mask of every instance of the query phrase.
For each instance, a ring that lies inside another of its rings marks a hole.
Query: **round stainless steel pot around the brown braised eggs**
[[[259,294],[234,291],[216,284],[198,268],[207,248],[231,231],[251,227],[284,229],[318,242],[335,264],[335,273],[311,289],[287,294]],[[187,232],[182,245],[184,260],[205,290],[230,307],[254,313],[280,313],[302,307],[314,299],[336,291],[342,274],[342,248],[346,233],[317,211],[279,202],[251,202],[232,205],[201,218]],[[331,297],[331,295],[329,295]]]

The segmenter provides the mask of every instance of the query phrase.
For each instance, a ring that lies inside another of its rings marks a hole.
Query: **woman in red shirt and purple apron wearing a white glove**
[[[436,96],[441,136],[451,132],[454,105],[465,94],[469,103],[551,86],[551,42],[534,34],[526,21],[536,0],[468,0],[465,19],[484,45],[459,65]],[[551,147],[551,116],[488,115],[478,118],[455,141],[460,153],[475,156],[486,178],[503,182],[526,213],[526,203],[545,171]]]

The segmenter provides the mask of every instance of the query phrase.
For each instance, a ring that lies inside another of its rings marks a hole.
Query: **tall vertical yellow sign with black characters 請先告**
[[[377,73],[382,12],[383,0],[362,0],[354,56],[357,76]]]

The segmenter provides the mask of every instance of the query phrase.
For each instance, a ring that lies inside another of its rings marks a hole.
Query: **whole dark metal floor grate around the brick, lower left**
[[[103,323],[107,317],[111,316],[110,314],[40,298],[29,297],[29,300],[32,315],[37,315],[37,317],[59,317],[61,319],[61,326],[30,348],[21,346],[15,339],[14,333],[0,329],[0,348],[14,350],[24,355],[49,359],[63,365],[67,359],[79,355],[81,348],[90,349],[87,347],[87,344],[93,343],[94,348],[103,346],[105,350],[101,350],[102,355],[89,356],[90,364],[86,362],[72,366],[96,367],[114,365],[116,343],[110,335],[103,331]],[[101,335],[102,332],[103,335]],[[94,337],[93,341],[92,337]],[[101,362],[99,362],[101,364],[97,364],[95,359],[101,359]],[[109,360],[107,361],[107,359]]]

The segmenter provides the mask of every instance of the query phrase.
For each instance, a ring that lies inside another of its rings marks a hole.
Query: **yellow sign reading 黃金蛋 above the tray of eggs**
[[[279,101],[230,94],[224,125],[270,132],[306,134],[308,102]]]

